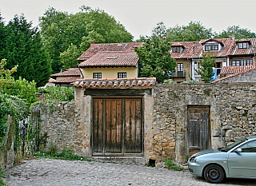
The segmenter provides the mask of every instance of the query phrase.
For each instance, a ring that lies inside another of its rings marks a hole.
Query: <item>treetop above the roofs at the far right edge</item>
[[[215,38],[256,38],[256,34],[248,29],[243,29],[240,26],[229,26],[226,30],[222,30]]]

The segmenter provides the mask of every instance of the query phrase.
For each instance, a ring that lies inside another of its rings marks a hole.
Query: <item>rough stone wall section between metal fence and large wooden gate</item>
[[[73,149],[74,153],[87,156],[86,147],[83,144],[84,130],[86,126],[81,122],[79,108],[74,102],[58,102],[55,105],[40,105],[41,130],[43,135],[47,133],[46,148],[56,147],[57,152],[65,149]],[[87,147],[89,148],[89,147]]]

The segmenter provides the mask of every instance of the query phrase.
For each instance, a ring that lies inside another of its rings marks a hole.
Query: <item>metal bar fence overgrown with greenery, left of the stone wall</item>
[[[14,150],[24,156],[39,150],[40,110],[33,108],[22,115],[22,120],[16,121],[17,132]]]

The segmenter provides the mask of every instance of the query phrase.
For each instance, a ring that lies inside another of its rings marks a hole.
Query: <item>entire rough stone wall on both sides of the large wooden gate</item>
[[[47,145],[58,151],[73,148],[78,155],[91,155],[91,100],[81,88],[75,101],[42,109],[41,133],[47,132]],[[166,158],[185,162],[187,148],[187,109],[201,105],[210,108],[210,148],[222,147],[241,137],[256,135],[256,87],[254,83],[159,84],[144,98],[144,158],[161,166]],[[142,160],[144,161],[144,160]]]

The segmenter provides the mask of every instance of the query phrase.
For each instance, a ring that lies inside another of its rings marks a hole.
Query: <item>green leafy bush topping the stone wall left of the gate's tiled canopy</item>
[[[73,101],[74,88],[62,86],[47,86],[46,88],[39,88],[39,93],[44,93],[44,101]]]

